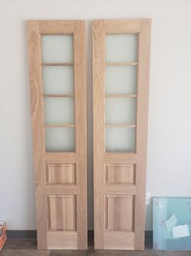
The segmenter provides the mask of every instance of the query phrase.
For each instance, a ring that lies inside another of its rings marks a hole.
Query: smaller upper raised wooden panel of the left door
[[[75,164],[46,164],[46,182],[48,184],[75,184]]]

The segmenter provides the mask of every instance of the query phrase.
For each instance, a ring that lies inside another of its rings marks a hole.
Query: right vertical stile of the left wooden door
[[[79,186],[77,200],[77,245],[87,249],[87,116],[86,116],[86,68],[85,68],[85,21],[75,23],[74,30],[74,77],[76,96],[76,183]]]

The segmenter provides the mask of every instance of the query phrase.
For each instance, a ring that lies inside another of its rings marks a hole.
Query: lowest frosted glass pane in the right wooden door
[[[135,152],[135,128],[112,127],[105,133],[106,152]]]

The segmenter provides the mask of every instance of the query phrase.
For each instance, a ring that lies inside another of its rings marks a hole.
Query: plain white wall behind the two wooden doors
[[[0,0],[0,219],[35,229],[25,20],[87,20],[89,229],[93,228],[90,20],[151,18],[147,190],[191,196],[191,1]],[[146,228],[151,228],[151,207]]]

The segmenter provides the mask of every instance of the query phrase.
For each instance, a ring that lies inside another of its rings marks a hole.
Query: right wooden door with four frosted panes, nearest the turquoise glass
[[[96,249],[144,249],[150,20],[93,21]]]

